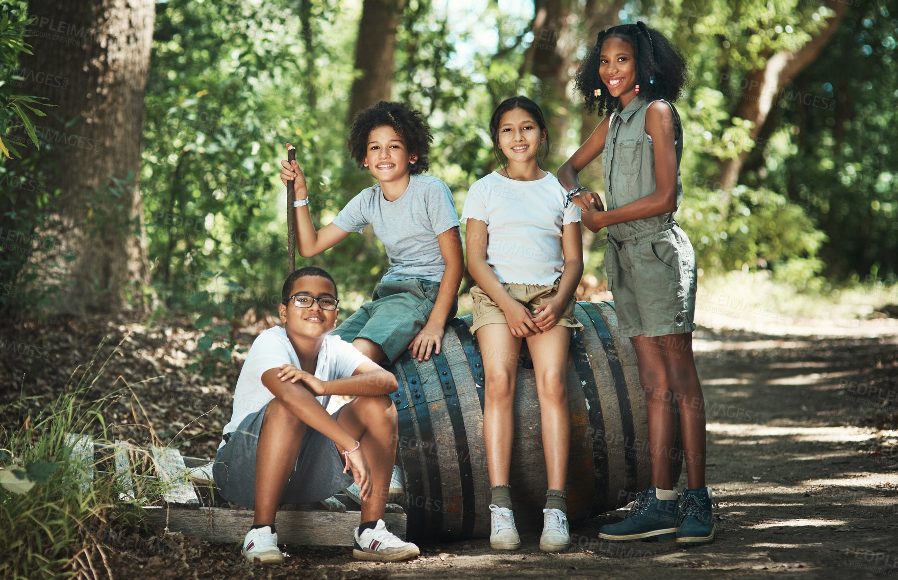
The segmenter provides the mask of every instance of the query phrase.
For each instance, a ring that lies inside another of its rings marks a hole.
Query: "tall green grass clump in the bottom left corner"
[[[130,391],[125,385],[92,397],[106,366],[104,361],[94,370],[96,358],[80,378],[75,370],[48,406],[36,408],[38,397],[20,397],[0,408],[0,416],[13,423],[0,426],[0,578],[112,578],[103,540],[141,522],[139,506],[161,491],[130,461],[128,475],[135,487],[128,495],[122,478],[113,477],[119,474],[111,458],[85,462],[66,445],[68,433],[110,442],[114,429],[103,411]]]

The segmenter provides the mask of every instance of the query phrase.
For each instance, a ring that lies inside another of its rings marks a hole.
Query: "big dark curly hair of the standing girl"
[[[624,40],[633,47],[633,58],[636,60],[636,84],[639,95],[649,101],[665,99],[674,103],[680,96],[682,86],[686,84],[686,61],[664,34],[649,28],[642,21],[636,24],[621,24],[599,32],[594,48],[580,64],[574,76],[577,93],[582,94],[587,112],[598,110],[600,117],[617,108],[620,99],[612,97],[608,87],[599,76],[602,45],[611,37]],[[654,82],[650,82],[654,77]],[[595,89],[602,89],[602,94],[595,96]]]

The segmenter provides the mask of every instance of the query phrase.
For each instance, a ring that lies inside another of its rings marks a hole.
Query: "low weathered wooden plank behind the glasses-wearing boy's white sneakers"
[[[185,510],[175,507],[146,507],[149,519],[159,528],[180,531],[200,540],[219,543],[241,542],[252,525],[251,510],[200,507]],[[401,539],[405,539],[405,514],[386,513],[383,521]],[[353,531],[359,524],[358,512],[278,512],[277,540],[306,546],[351,546]]]

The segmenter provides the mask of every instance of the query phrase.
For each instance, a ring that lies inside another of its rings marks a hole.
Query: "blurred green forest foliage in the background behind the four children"
[[[359,4],[340,7],[345,10],[318,0],[298,7],[286,0],[158,5],[141,174],[148,249],[164,303],[197,317],[206,349],[198,370],[211,371],[209,365],[225,360],[225,322],[250,308],[276,308],[271,296],[286,275],[288,243],[277,177],[284,142],[297,146],[316,226],[372,183],[348,160],[344,145],[360,11]],[[805,287],[820,272],[850,271],[832,268],[839,260],[836,248],[843,246],[846,228],[867,228],[857,220],[869,214],[876,216],[876,229],[869,226],[869,240],[858,243],[846,262],[885,264],[888,252],[898,254],[886,241],[896,239],[888,228],[898,221],[885,219],[898,210],[885,129],[893,115],[894,65],[888,55],[894,40],[888,39],[894,31],[888,32],[892,20],[883,13],[869,18],[871,26],[863,24],[874,8],[870,2],[865,13],[855,14],[852,7],[827,52],[777,95],[772,129],[752,141],[751,123],[734,114],[745,79],[778,51],[806,43],[832,11],[799,0],[628,4],[624,22],[646,20],[689,60],[691,85],[677,103],[685,146],[679,217],[706,271],[770,270]],[[492,2],[476,19],[449,10],[430,0],[409,2],[397,31],[393,95],[427,116],[435,137],[430,173],[449,184],[461,209],[471,183],[495,168],[487,130],[495,105],[510,94],[529,94],[538,102],[548,97],[524,58],[537,41],[529,30],[532,13],[525,7],[503,12]],[[574,24],[574,37],[585,34],[579,26]],[[577,58],[591,48],[590,40],[577,41]],[[851,51],[841,51],[843,44]],[[871,54],[864,46],[873,47]],[[844,61],[840,71],[857,68],[851,59],[878,58],[876,75],[885,79],[867,89],[866,81],[846,73],[850,78],[839,95],[820,94],[840,105],[849,103],[848,94],[861,94],[858,111],[869,115],[840,121],[841,138],[825,118],[832,112],[799,106],[807,86],[823,86],[806,78],[832,76],[837,55]],[[579,103],[543,104],[566,115],[576,133]],[[874,138],[861,138],[871,132]],[[571,143],[569,135],[551,138]],[[742,186],[725,207],[718,192],[720,164],[746,151],[752,155]],[[550,171],[564,157],[555,155],[545,167]],[[867,171],[867,162],[876,171]],[[597,175],[594,165],[584,174],[590,182]],[[856,183],[868,198],[864,203],[852,202]],[[855,221],[835,219],[837,213]],[[587,263],[596,263],[597,254],[587,248]],[[387,266],[383,246],[370,235],[349,236],[309,261],[297,258],[297,265],[306,263],[334,275],[344,315],[367,298]],[[874,266],[865,267],[867,273]]]

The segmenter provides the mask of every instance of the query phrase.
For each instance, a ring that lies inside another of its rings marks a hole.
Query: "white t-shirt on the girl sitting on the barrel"
[[[519,182],[493,172],[468,191],[462,222],[487,224],[487,263],[500,282],[551,286],[564,269],[561,227],[580,221],[580,208],[555,175]]]

